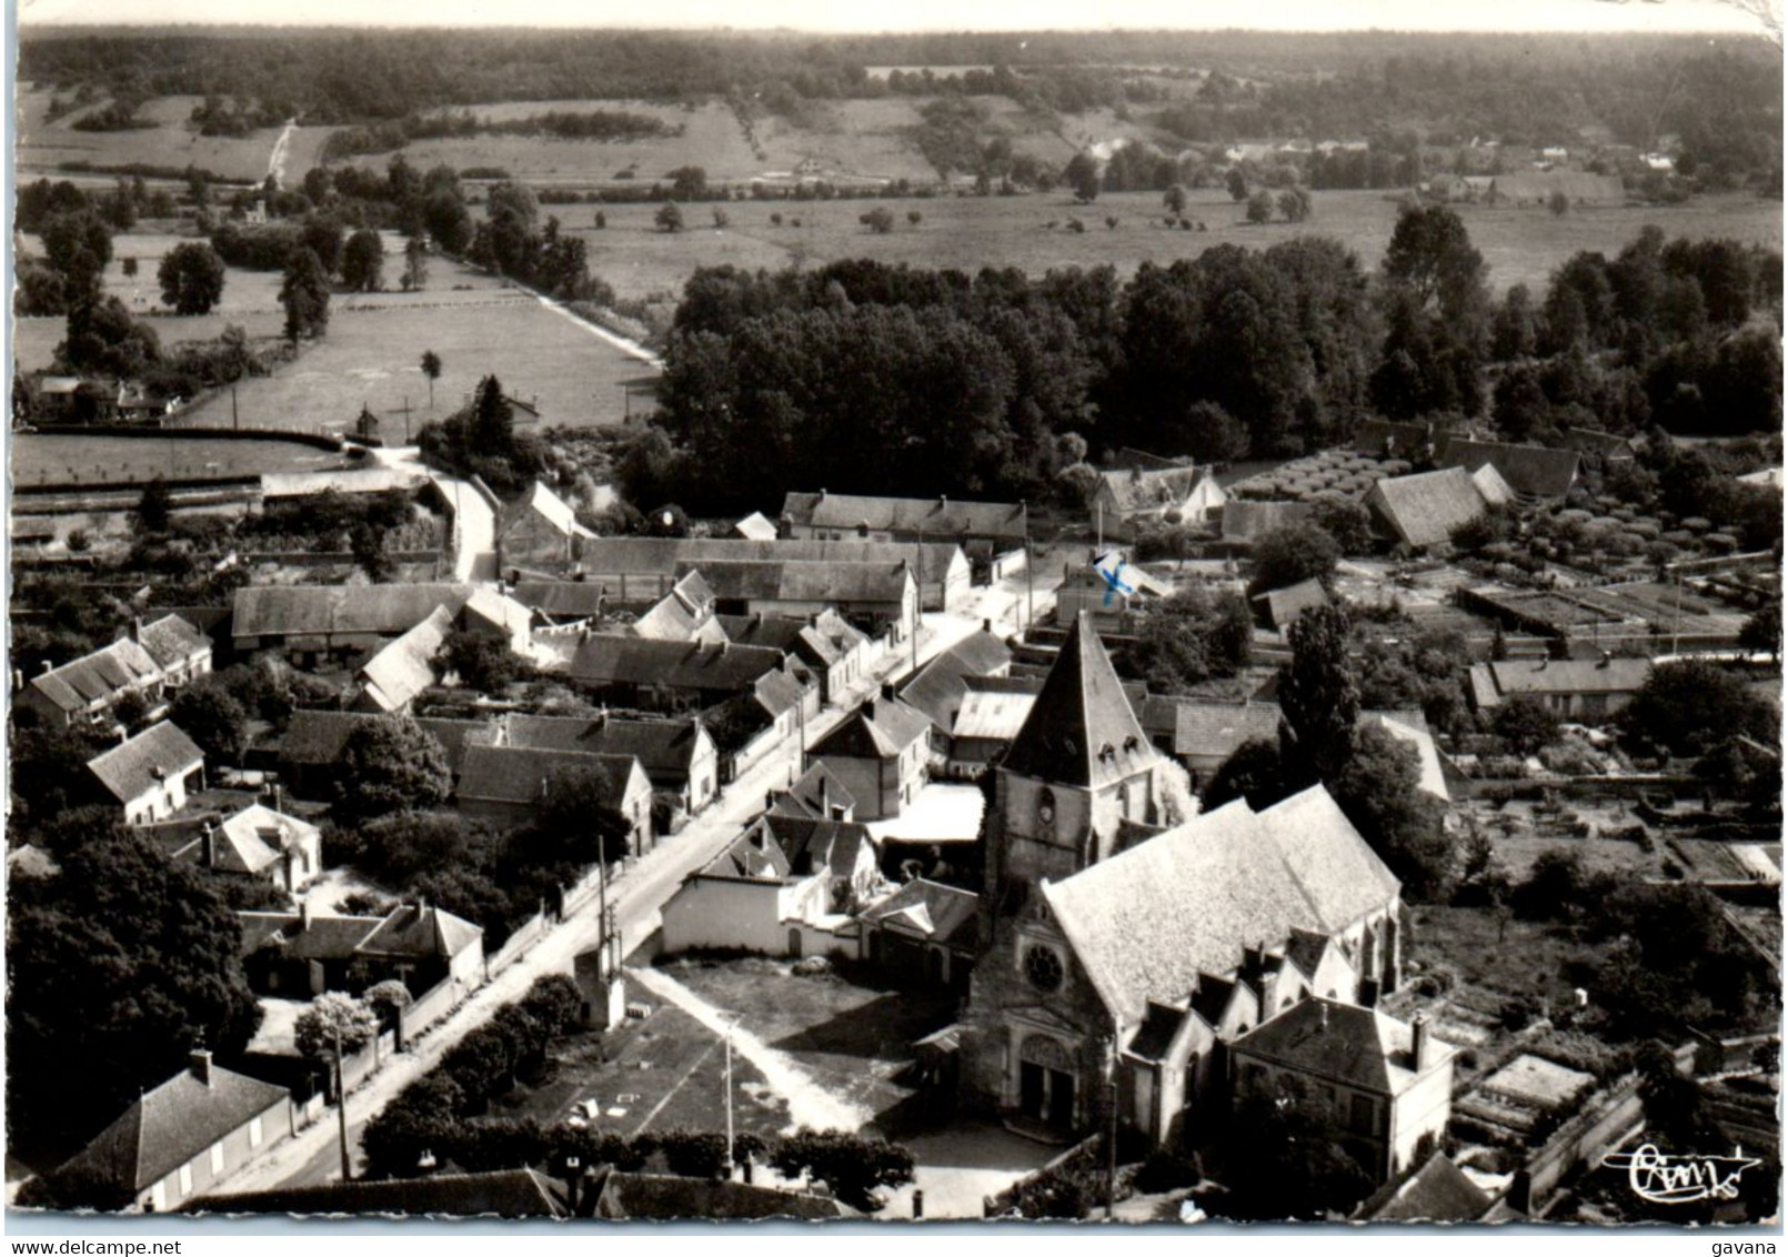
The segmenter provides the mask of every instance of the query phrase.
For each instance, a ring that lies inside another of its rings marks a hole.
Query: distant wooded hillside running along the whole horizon
[[[114,98],[197,95],[265,102],[254,120],[401,122],[490,100],[730,97],[769,113],[806,100],[1001,95],[1032,111],[1146,105],[1182,79],[1160,123],[1191,141],[1257,136],[1432,143],[1473,136],[1570,143],[1584,125],[1656,147],[1674,132],[1690,165],[1727,179],[1779,168],[1781,64],[1742,41],[1688,38],[1441,38],[1384,32],[1037,32],[1017,36],[715,36],[647,32],[238,34],[234,55],[190,34],[21,41],[20,75],[102,84]],[[1168,66],[1144,75],[1123,66]],[[937,66],[873,77],[867,66]],[[951,70],[960,66],[960,70]],[[1184,66],[1184,68],[1178,68]],[[1325,73],[1311,73],[1321,66]],[[1659,84],[1679,84],[1659,93]],[[1196,84],[1196,88],[1193,86]],[[1659,98],[1661,95],[1661,98]],[[238,113],[207,100],[207,125]],[[266,125],[272,125],[270,122]]]

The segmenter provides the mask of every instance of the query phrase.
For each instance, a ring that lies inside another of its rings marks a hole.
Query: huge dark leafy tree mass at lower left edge
[[[261,1008],[204,876],[98,812],[45,840],[61,873],[11,894],[9,1126],[79,1144],[195,1044],[245,1048]]]

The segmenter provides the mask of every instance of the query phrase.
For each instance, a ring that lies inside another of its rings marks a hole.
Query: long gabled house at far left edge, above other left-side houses
[[[97,651],[46,667],[18,694],[18,704],[38,712],[52,730],[97,724],[111,717],[125,694],[150,704],[211,671],[211,638],[179,615],[143,624]]]

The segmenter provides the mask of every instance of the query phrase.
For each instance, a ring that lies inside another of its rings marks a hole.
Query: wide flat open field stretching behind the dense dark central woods
[[[549,206],[567,231],[588,240],[590,268],[622,297],[678,293],[696,266],[824,265],[839,257],[874,257],[914,266],[1019,266],[1042,274],[1051,266],[1116,266],[1130,275],[1143,261],[1171,265],[1216,245],[1269,249],[1296,236],[1332,236],[1352,249],[1370,272],[1384,257],[1396,225],[1396,202],[1377,191],[1320,191],[1305,224],[1250,225],[1221,191],[1191,195],[1187,216],[1209,231],[1162,225],[1159,193],[1109,193],[1076,206],[1064,193],[1028,197],[915,197],[907,200],[740,200],[722,206],[726,229],[712,227],[712,207],[685,207],[688,231],[670,236],[653,225],[656,206],[601,206],[608,227],[594,229],[595,206]],[[876,236],[858,218],[876,206],[894,211],[894,231]],[[1472,243],[1484,254],[1491,288],[1511,284],[1536,291],[1572,254],[1618,252],[1647,224],[1666,236],[1733,236],[1781,247],[1781,204],[1754,197],[1708,197],[1686,206],[1572,209],[1554,216],[1538,207],[1459,206]],[[923,218],[912,225],[908,213]],[[781,225],[771,222],[781,216]],[[1107,227],[1107,216],[1118,227]],[[1078,218],[1084,232],[1066,224]],[[794,224],[799,220],[799,227]],[[1048,224],[1057,224],[1050,229]]]

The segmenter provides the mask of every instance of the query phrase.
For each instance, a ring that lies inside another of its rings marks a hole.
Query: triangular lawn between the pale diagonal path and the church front
[[[932,1125],[914,1087],[901,1082],[910,1044],[955,1019],[946,991],[903,991],[856,966],[814,976],[769,958],[665,962],[663,971],[697,996],[740,1014],[740,1025],[794,1057],[830,1092],[876,1114],[874,1128],[901,1139]]]

